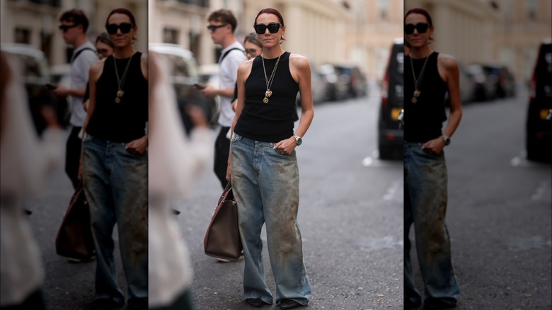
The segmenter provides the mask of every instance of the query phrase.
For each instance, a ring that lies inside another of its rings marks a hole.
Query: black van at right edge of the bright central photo
[[[378,119],[378,147],[380,159],[402,159],[403,129],[398,120],[403,110],[404,86],[403,38],[391,45],[384,80],[381,87],[381,105]]]

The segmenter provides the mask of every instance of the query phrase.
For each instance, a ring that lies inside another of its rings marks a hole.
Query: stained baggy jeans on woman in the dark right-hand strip
[[[447,165],[444,153],[429,154],[422,144],[404,142],[404,294],[420,303],[410,263],[408,232],[414,223],[416,251],[425,286],[424,302],[455,305],[459,285],[452,268],[447,212]]]

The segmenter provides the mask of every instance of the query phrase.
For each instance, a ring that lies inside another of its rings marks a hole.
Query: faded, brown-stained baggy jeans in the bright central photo
[[[276,282],[276,304],[293,299],[309,304],[311,283],[303,261],[297,224],[299,168],[295,151],[282,155],[274,143],[258,142],[234,133],[231,176],[245,256],[243,291],[246,299],[272,304],[263,267],[260,231],[266,224],[268,254]]]

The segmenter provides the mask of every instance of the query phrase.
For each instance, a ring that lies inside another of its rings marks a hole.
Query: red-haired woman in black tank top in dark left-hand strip
[[[81,165],[96,245],[94,304],[100,308],[125,304],[113,261],[117,224],[128,307],[147,309],[147,58],[132,47],[137,32],[132,12],[116,8],[105,28],[115,52],[90,69]]]

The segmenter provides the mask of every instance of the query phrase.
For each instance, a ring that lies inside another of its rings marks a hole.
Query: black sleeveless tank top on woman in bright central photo
[[[265,59],[267,78],[270,79],[277,58]],[[234,132],[262,142],[280,142],[292,137],[294,127],[294,109],[299,84],[289,71],[289,52],[284,52],[270,86],[272,96],[268,103],[265,98],[266,82],[263,72],[263,59],[253,59],[251,74],[246,81],[246,105],[243,107]]]

